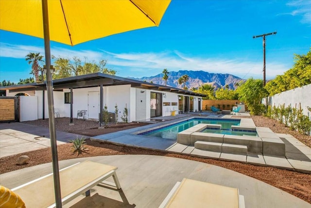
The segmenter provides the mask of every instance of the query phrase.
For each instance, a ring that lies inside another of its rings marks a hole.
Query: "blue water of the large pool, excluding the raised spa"
[[[192,118],[180,123],[172,124],[166,127],[162,127],[159,129],[142,132],[139,135],[145,136],[155,136],[166,139],[177,139],[177,133],[182,132],[190,127],[193,127],[197,124],[221,124],[222,129],[231,129],[232,125],[239,126],[240,119],[212,119],[212,118]]]

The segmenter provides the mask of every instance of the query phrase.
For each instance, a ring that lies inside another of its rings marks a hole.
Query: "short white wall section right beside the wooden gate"
[[[19,121],[37,120],[37,97],[20,96],[19,97]]]

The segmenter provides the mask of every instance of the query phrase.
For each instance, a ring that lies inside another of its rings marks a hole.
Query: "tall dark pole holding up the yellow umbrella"
[[[42,0],[42,15],[43,15],[45,64],[47,67],[47,83],[46,84],[47,84],[48,107],[49,107],[49,127],[50,127],[50,139],[51,139],[51,149],[52,149],[52,166],[53,166],[55,204],[56,204],[56,208],[61,208],[62,197],[61,197],[61,191],[60,191],[59,167],[58,167],[57,144],[56,144],[53,83],[52,83],[52,74],[51,74],[51,69],[50,69],[51,46],[50,46],[49,13],[48,13],[48,1],[47,0]]]

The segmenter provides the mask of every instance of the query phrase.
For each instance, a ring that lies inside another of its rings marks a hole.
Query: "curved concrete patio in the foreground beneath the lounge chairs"
[[[91,197],[81,195],[64,208],[157,208],[175,183],[183,178],[238,188],[246,208],[310,208],[307,202],[257,179],[191,160],[155,155],[114,155],[59,161],[59,166],[62,169],[85,160],[118,167],[122,189],[115,191],[96,186],[91,189]],[[14,188],[51,172],[51,163],[16,170],[1,174],[0,184]]]

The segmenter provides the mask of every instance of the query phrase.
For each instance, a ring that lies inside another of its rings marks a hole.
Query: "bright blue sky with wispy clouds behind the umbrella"
[[[262,78],[262,38],[266,37],[266,77],[282,75],[294,54],[311,47],[310,0],[172,0],[159,27],[129,31],[68,46],[51,42],[56,57],[107,60],[117,76],[155,76],[193,70]],[[43,39],[0,30],[0,81],[30,75],[30,53],[44,56]]]

